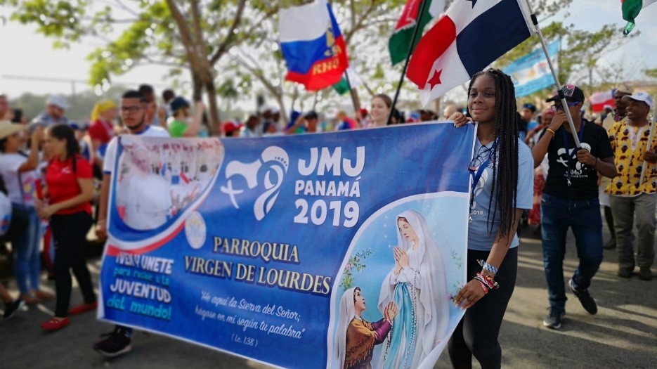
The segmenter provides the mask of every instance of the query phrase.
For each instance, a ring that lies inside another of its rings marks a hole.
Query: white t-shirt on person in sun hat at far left
[[[34,206],[34,198],[37,197],[37,180],[41,176],[36,170],[23,171],[20,174],[22,183],[19,183],[18,168],[24,162],[27,162],[27,157],[18,153],[0,154],[0,175],[4,179],[11,202]]]

